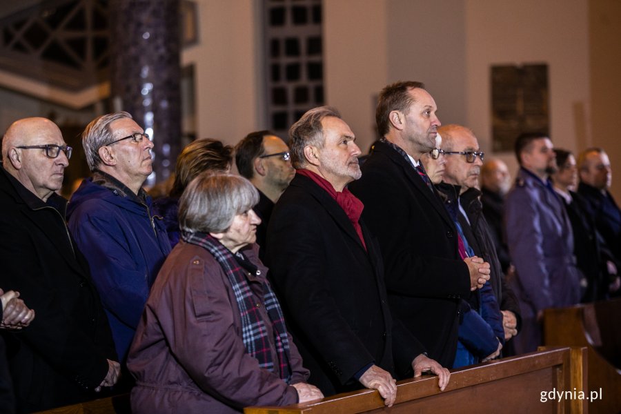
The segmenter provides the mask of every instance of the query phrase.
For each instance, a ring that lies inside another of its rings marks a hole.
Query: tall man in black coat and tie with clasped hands
[[[429,356],[452,366],[460,297],[483,286],[489,264],[460,257],[453,220],[420,166],[435,148],[435,101],[420,82],[386,86],[377,103],[383,138],[351,185],[364,203],[364,221],[377,235],[393,315],[422,342]]]

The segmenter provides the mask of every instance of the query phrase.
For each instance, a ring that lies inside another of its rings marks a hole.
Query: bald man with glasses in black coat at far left
[[[0,286],[37,312],[28,328],[5,335],[18,412],[94,399],[119,375],[88,264],[65,224],[66,200],[55,194],[70,155],[44,118],[14,122],[2,142]]]

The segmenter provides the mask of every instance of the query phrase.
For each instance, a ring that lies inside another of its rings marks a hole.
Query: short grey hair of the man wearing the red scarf
[[[289,152],[291,165],[299,169],[306,166],[304,148],[306,146],[324,146],[324,128],[322,120],[326,117],[341,119],[341,114],[331,106],[319,106],[306,111],[302,118],[289,128]]]

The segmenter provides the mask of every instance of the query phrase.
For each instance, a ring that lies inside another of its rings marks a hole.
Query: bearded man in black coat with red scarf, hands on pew
[[[375,388],[386,405],[398,378],[449,371],[400,324],[393,324],[375,239],[362,203],[345,186],[360,177],[353,132],[328,107],[309,110],[289,131],[297,173],[268,228],[270,277],[295,343],[324,395]]]

